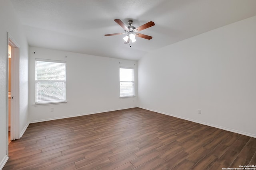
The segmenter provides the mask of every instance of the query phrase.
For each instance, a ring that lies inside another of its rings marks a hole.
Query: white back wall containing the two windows
[[[31,122],[137,107],[136,97],[119,98],[119,67],[134,67],[137,71],[136,61],[38,47],[29,47],[29,57]],[[34,105],[36,58],[66,61],[66,104]],[[51,111],[51,108],[54,108],[54,111]]]

